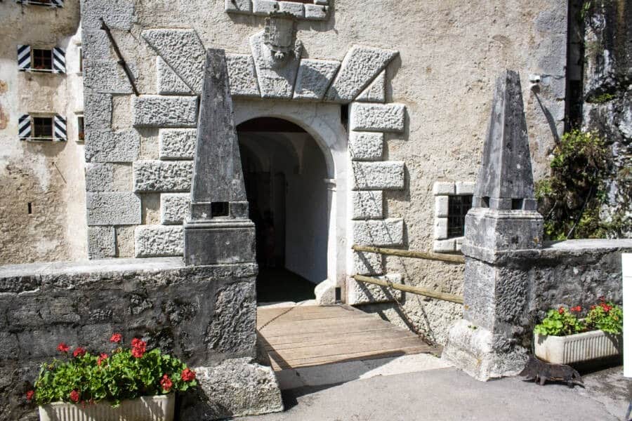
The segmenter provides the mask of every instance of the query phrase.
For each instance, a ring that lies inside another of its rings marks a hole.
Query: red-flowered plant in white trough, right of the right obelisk
[[[534,354],[555,364],[577,363],[621,353],[623,310],[600,297],[584,318],[581,307],[548,311],[534,328]]]

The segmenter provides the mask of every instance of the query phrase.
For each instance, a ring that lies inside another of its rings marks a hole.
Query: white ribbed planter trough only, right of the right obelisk
[[[534,333],[534,353],[539,359],[553,364],[570,364],[614,356],[621,353],[621,335],[611,335],[603,330],[568,336]]]

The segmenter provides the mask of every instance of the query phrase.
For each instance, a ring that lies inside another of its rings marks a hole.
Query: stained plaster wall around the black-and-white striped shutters
[[[83,111],[79,4],[64,8],[0,3],[0,262],[74,260],[85,256]],[[17,46],[66,49],[66,74],[18,72]],[[67,119],[67,142],[18,138],[22,114]],[[32,203],[32,214],[27,203]]]

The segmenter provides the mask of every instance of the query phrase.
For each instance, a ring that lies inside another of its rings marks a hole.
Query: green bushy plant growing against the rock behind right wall
[[[536,183],[545,236],[616,238],[631,232],[629,172],[613,174],[610,148],[597,133],[574,130],[563,135],[553,150],[551,175]],[[619,186],[614,208],[607,206],[613,181]]]

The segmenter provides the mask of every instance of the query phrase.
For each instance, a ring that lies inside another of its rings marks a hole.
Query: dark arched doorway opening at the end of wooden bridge
[[[237,126],[250,218],[256,225],[258,302],[314,298],[327,279],[329,201],[322,149],[290,121]]]

